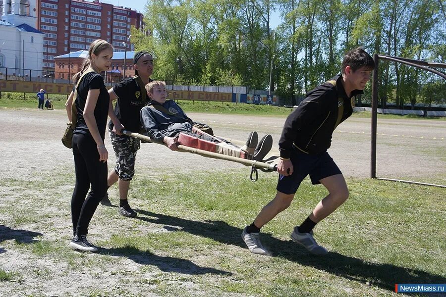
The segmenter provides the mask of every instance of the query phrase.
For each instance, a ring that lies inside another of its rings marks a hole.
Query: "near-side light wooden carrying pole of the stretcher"
[[[148,137],[146,135],[139,134],[139,133],[122,130],[122,134],[140,139],[145,142],[152,142],[150,137]],[[269,163],[259,162],[256,160],[237,158],[237,157],[228,156],[228,155],[224,155],[221,153],[207,151],[207,150],[203,150],[203,149],[190,148],[190,147],[186,147],[183,145],[177,145],[177,148],[178,148],[178,151],[181,151],[181,152],[191,152],[191,153],[202,155],[204,157],[232,161],[232,162],[237,162],[237,163],[240,163],[240,164],[243,164],[246,166],[254,166],[256,168],[263,168],[263,169],[270,170],[270,171],[277,171],[276,164],[269,164]]]

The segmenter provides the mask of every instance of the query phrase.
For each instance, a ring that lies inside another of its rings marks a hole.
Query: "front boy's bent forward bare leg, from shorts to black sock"
[[[320,180],[321,184],[327,188],[329,195],[319,201],[310,214],[310,220],[315,223],[325,219],[336,210],[348,198],[347,184],[342,174],[336,174]]]

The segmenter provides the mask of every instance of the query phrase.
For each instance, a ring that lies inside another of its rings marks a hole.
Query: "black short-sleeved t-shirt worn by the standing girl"
[[[74,129],[74,133],[85,135],[90,133],[82,113],[84,112],[88,91],[98,89],[100,91],[98,101],[96,102],[94,115],[96,118],[96,124],[98,125],[99,134],[104,140],[107,126],[107,117],[109,114],[110,96],[104,85],[103,77],[97,72],[91,72],[85,75],[79,86],[77,87],[77,98],[75,101],[77,108],[77,123],[76,128]]]

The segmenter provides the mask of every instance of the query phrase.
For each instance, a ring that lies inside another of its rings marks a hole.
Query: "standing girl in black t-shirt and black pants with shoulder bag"
[[[113,48],[104,40],[94,41],[88,50],[83,69],[73,77],[76,92],[72,92],[65,107],[71,121],[71,106],[77,109],[73,133],[74,169],[76,184],[71,198],[71,220],[74,237],[70,246],[83,251],[97,251],[87,240],[88,225],[100,202],[107,193],[107,159],[104,136],[110,99],[99,74],[110,68]],[[90,189],[91,191],[87,192]]]

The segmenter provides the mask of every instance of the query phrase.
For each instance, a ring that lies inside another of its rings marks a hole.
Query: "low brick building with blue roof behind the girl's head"
[[[124,67],[125,77],[132,77],[135,75],[135,69],[133,68],[133,55],[134,51],[127,51],[124,65],[124,53],[123,51],[113,52],[113,58],[111,59],[110,70],[107,71],[104,76],[106,83],[117,83],[123,77]],[[69,80],[74,74],[82,69],[84,59],[88,55],[88,50],[78,50],[70,52],[60,56],[54,57],[55,61],[55,79]]]

